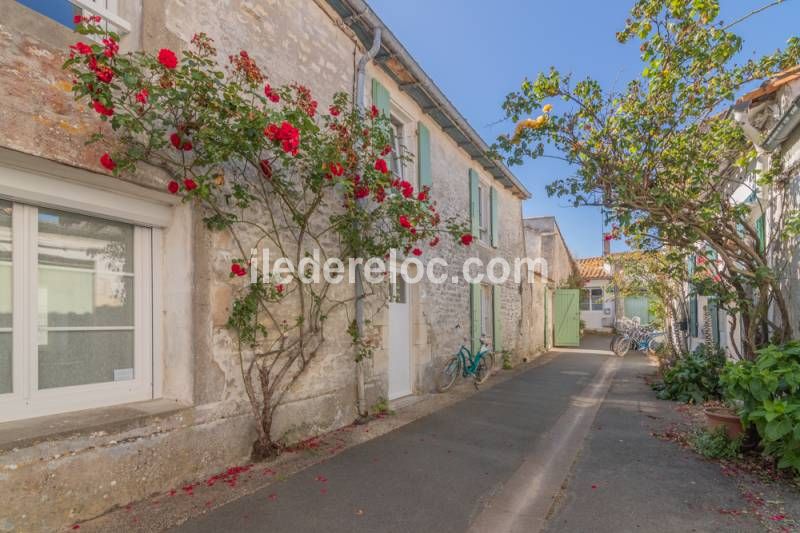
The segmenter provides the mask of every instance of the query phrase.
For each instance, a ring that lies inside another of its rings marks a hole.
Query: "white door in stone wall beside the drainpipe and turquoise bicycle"
[[[402,276],[389,303],[389,399],[411,394],[411,306]]]

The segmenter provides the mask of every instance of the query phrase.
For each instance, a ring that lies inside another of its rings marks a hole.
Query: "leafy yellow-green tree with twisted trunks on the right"
[[[503,104],[518,122],[516,131],[495,147],[510,164],[558,157],[573,165],[575,173],[549,184],[548,193],[576,206],[603,205],[636,247],[673,247],[697,253],[708,265],[715,257],[707,252],[713,251],[720,268],[704,289],[731,313],[741,313],[749,355],[767,342],[763,330],[778,342],[792,336],[779,283],[783,265],[769,261],[789,226],[776,224],[761,242],[750,207],[733,203],[730,195],[748,173],[763,186],[785,177],[786,169],[777,161],[754,169],[756,152],[729,107],[746,84],[798,63],[800,39],[738,62],[742,39],[731,29],[781,3],[724,24],[715,0],[638,0],[617,38],[640,44],[641,76],[622,91],[590,78],[573,83],[555,68],[525,80]],[[545,104],[557,98],[565,102],[563,112]],[[540,108],[538,118],[521,120]],[[787,221],[795,216],[785,214]],[[777,319],[769,313],[773,305]]]

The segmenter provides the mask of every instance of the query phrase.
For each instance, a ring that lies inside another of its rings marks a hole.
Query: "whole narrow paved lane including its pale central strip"
[[[651,435],[673,414],[606,337],[179,531],[762,531],[735,480]]]

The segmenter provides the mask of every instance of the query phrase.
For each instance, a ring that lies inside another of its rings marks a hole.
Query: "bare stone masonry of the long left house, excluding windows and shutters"
[[[320,108],[326,109],[334,92],[352,92],[354,65],[362,50],[320,4],[311,0],[144,0],[141,24],[122,45],[124,49],[182,49],[195,32],[203,31],[216,40],[220,58],[246,49],[271,83],[303,83],[319,99]],[[0,21],[4,93],[0,145],[64,169],[102,175],[101,150],[85,145],[99,123],[86,107],[73,102],[70,80],[61,71],[66,47],[76,38],[68,29],[11,0],[0,0],[0,11],[4,13]],[[371,76],[390,90],[410,124],[422,120],[428,126],[433,194],[439,198],[443,216],[464,217],[469,212],[468,169],[475,168],[486,179],[489,176],[382,70],[370,66]],[[407,143],[412,153],[415,139],[414,131]],[[146,168],[135,175],[105,179],[112,189],[134,184],[150,195],[162,194],[166,184],[165,176]],[[495,187],[499,191],[499,246],[466,248],[443,239],[435,254],[447,258],[452,273],[460,273],[469,254],[479,254],[486,262],[502,255],[512,264],[524,255],[521,200],[501,185],[495,183]],[[160,311],[166,323],[155,389],[186,407],[179,415],[155,418],[135,429],[110,428],[94,437],[61,435],[0,452],[0,498],[10,502],[0,510],[0,529],[58,529],[245,460],[253,431],[233,357],[233,339],[224,328],[232,298],[228,267],[234,251],[224,235],[205,229],[191,207],[176,207],[175,213],[175,228],[165,231],[164,243],[171,253],[183,254],[181,264],[187,266],[178,271],[171,268],[175,263],[163,259],[165,303]],[[426,250],[425,255],[430,258],[434,252]],[[533,290],[526,291],[513,282],[502,289],[503,345],[517,357],[538,349],[521,334],[523,323],[532,320],[525,309],[532,308],[532,299],[539,297]],[[524,294],[531,298],[527,304],[523,304]],[[414,286],[411,300],[415,392],[422,393],[432,390],[435,362],[453,353],[463,332],[469,331],[469,290],[463,280],[420,283]],[[355,418],[355,365],[344,334],[345,321],[343,314],[332,318],[330,330],[340,333],[278,410],[275,437],[302,438]],[[389,326],[385,313],[376,316],[375,324],[385,338]],[[455,329],[457,324],[462,326],[460,331]],[[386,395],[387,366],[386,350],[379,349],[369,362],[368,404]]]

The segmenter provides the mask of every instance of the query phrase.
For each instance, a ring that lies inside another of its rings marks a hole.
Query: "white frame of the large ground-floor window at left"
[[[112,178],[105,177],[104,180]],[[116,180],[114,180],[116,181]],[[121,182],[120,182],[121,183]],[[108,186],[108,185],[106,185]],[[0,198],[12,202],[12,392],[0,394],[0,422],[148,400],[160,395],[161,227],[171,209],[124,193],[0,165]],[[38,390],[38,208],[134,225],[134,379]]]

